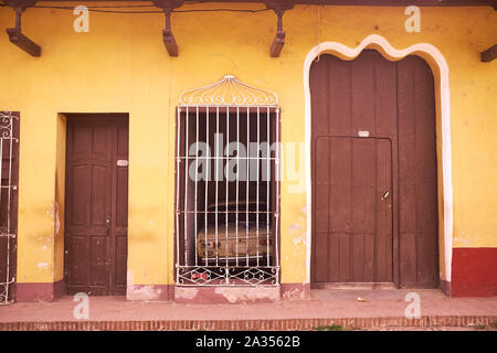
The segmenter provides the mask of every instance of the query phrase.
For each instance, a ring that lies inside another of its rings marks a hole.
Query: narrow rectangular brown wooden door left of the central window
[[[68,293],[126,293],[127,118],[67,119],[65,281]]]

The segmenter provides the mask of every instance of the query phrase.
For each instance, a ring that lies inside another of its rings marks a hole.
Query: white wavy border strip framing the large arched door
[[[353,60],[364,49],[381,49],[384,54],[394,60],[401,60],[413,53],[429,54],[437,65],[440,75],[440,96],[435,97],[438,103],[442,119],[442,173],[443,173],[443,191],[444,191],[444,253],[445,253],[445,280],[451,281],[452,267],[452,235],[453,235],[453,189],[452,189],[452,148],[451,148],[451,94],[448,86],[448,66],[442,53],[433,45],[420,43],[409,46],[404,50],[395,50],[390,43],[378,34],[367,36],[359,46],[351,49],[337,42],[322,42],[316,45],[307,54],[304,62],[304,94],[305,94],[305,124],[306,124],[306,174],[307,174],[307,279],[310,282],[310,248],[311,248],[311,176],[310,176],[310,87],[309,71],[314,60],[320,53],[339,54],[341,58]],[[380,52],[381,53],[381,52]],[[382,53],[383,54],[383,53]],[[383,55],[384,55],[383,54]],[[436,72],[433,73],[436,75]],[[436,83],[435,77],[435,83]],[[435,87],[435,92],[437,92]],[[437,119],[440,117],[437,116]],[[442,279],[442,278],[441,278]]]

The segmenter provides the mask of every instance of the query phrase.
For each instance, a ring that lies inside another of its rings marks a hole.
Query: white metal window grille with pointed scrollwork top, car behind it
[[[224,76],[177,110],[178,286],[279,284],[277,96]]]

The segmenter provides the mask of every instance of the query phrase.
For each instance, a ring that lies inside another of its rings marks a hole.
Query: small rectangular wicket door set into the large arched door
[[[392,281],[390,141],[318,137],[315,156],[314,282]]]

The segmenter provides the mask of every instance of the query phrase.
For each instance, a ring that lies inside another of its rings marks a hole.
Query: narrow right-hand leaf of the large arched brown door
[[[420,57],[398,63],[400,284],[438,286],[438,207],[433,75]],[[403,245],[404,244],[404,245]],[[406,259],[405,261],[403,259]]]

